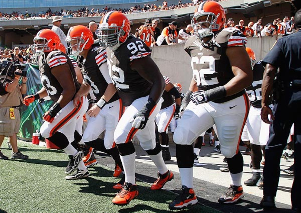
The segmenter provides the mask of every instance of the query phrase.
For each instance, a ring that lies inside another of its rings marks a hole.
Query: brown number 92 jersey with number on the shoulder
[[[132,60],[151,55],[151,49],[133,35],[115,51],[107,48],[107,63],[113,84],[124,106],[149,95],[152,84],[131,69]],[[147,66],[147,64],[145,64]]]

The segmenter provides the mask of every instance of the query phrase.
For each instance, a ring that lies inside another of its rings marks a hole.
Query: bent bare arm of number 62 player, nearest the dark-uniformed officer
[[[236,94],[252,84],[253,72],[249,56],[244,47],[228,47],[226,55],[230,61],[234,78],[224,85],[226,96]],[[239,55],[240,57],[237,57]]]

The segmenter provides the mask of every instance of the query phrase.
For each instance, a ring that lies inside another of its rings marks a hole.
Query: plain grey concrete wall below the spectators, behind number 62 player
[[[274,37],[248,38],[247,47],[255,52],[256,61],[262,60],[275,43]],[[191,78],[191,58],[184,51],[184,44],[152,47],[151,57],[161,73],[168,76],[172,83],[179,82],[182,92],[188,90]]]

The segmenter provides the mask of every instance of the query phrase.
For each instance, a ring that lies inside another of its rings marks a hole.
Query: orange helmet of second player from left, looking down
[[[68,31],[66,42],[70,44],[71,55],[77,56],[94,44],[93,33],[83,25],[73,26]]]

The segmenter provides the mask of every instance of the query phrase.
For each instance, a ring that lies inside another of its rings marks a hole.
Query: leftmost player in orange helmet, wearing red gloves
[[[89,172],[81,160],[83,153],[71,145],[77,140],[75,138],[81,138],[82,130],[78,124],[81,119],[77,117],[85,114],[88,100],[82,98],[77,108],[73,106],[72,100],[80,84],[76,80],[72,62],[63,52],[64,49],[61,47],[57,34],[50,29],[42,29],[34,37],[33,42],[33,52],[40,55],[39,71],[43,88],[36,94],[24,97],[24,103],[28,106],[34,100],[50,96],[54,104],[43,116],[41,135],[68,154],[70,161],[65,170],[66,174],[78,168],[75,176],[66,176],[66,179],[88,177]],[[76,131],[77,135],[75,135]]]

